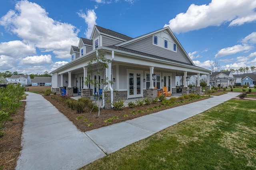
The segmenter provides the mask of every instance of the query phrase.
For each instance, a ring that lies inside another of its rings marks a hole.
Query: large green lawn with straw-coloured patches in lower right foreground
[[[256,169],[256,101],[229,100],[82,169]]]

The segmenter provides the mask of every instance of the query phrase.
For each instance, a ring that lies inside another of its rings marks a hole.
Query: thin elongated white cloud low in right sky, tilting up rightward
[[[233,47],[227,47],[224,49],[221,49],[220,51],[218,51],[218,53],[215,55],[215,58],[218,57],[223,57],[226,55],[233,55],[242,51],[247,51],[252,49],[253,46],[247,45],[247,44],[243,44],[243,45],[234,45]]]

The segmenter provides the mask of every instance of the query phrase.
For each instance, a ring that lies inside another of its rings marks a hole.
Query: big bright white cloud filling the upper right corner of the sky
[[[230,22],[231,25],[256,21],[256,1],[254,0],[212,0],[208,5],[191,4],[185,13],[176,15],[165,24],[176,33],[188,32],[208,26],[219,26]]]

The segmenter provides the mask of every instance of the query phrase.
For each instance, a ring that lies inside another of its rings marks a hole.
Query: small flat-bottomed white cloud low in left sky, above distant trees
[[[51,55],[30,56],[30,57],[25,57],[20,61],[20,64],[29,64],[29,65],[44,65],[44,64],[51,64],[51,63],[52,63]]]

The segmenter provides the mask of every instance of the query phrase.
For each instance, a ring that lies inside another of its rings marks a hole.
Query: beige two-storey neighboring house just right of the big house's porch
[[[231,71],[212,72],[210,75],[210,84],[216,86],[234,86],[234,76]]]

